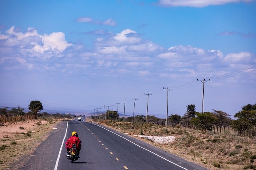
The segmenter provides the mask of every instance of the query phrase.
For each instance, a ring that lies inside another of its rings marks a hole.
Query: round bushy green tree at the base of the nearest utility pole
[[[196,112],[196,117],[191,119],[191,123],[193,123],[197,129],[206,132],[206,130],[212,130],[212,125],[216,123],[216,119],[216,116],[211,112]]]

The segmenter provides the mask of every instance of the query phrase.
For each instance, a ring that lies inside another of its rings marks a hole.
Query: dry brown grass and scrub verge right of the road
[[[130,135],[173,135],[175,142],[169,144],[138,139],[211,170],[256,169],[255,137],[234,136],[226,132],[214,134],[189,129],[166,129],[152,124],[110,122],[105,125]]]

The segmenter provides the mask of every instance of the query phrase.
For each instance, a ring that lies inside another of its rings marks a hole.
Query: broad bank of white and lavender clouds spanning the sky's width
[[[6,34],[0,33],[0,37],[1,70],[44,69],[64,74],[86,72],[88,75],[102,75],[104,72],[104,76],[116,76],[118,72],[176,79],[181,75],[212,76],[217,74],[216,67],[234,69],[238,64],[256,62],[255,55],[248,52],[224,56],[218,49],[191,45],[165,49],[143,39],[132,29],[124,29],[105,38],[97,37],[92,48],[68,43],[62,32],[40,35],[34,28],[22,33],[11,27]],[[58,58],[60,56],[61,59]]]

